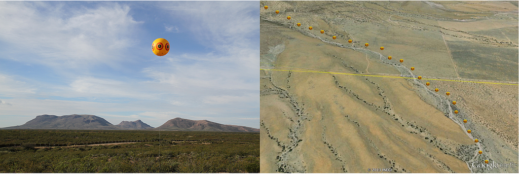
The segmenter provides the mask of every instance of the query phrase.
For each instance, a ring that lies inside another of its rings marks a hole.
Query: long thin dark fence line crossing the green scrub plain
[[[16,146],[38,146],[38,147],[59,147],[59,146],[73,146],[73,145],[91,145],[91,144],[106,144],[106,143],[131,143],[131,142],[156,142],[156,141],[244,141],[244,140],[260,140],[256,139],[189,139],[189,140],[119,140],[119,141],[94,141],[83,143],[12,143],[0,144],[0,148],[16,147]]]

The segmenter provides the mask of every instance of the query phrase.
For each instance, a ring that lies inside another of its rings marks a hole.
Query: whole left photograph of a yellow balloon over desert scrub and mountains
[[[260,172],[259,1],[0,1],[0,172]]]

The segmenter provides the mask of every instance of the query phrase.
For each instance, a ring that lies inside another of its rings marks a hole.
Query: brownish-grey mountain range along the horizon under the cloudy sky
[[[38,115],[31,121],[20,125],[0,129],[72,129],[72,130],[172,130],[172,131],[221,131],[221,132],[260,132],[260,129],[224,125],[207,120],[194,121],[184,118],[173,118],[154,128],[140,119],[129,122],[122,121],[113,125],[106,119],[95,115]]]

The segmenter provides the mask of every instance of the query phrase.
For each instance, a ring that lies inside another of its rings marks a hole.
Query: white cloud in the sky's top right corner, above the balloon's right
[[[246,36],[257,34],[259,18],[251,15],[257,4],[239,1],[220,2],[171,2],[162,8],[171,9],[174,15],[184,15],[190,22],[190,31],[199,33],[204,41],[213,41],[214,46],[244,43]],[[232,10],[229,10],[232,9]],[[259,14],[259,11],[257,12]]]

